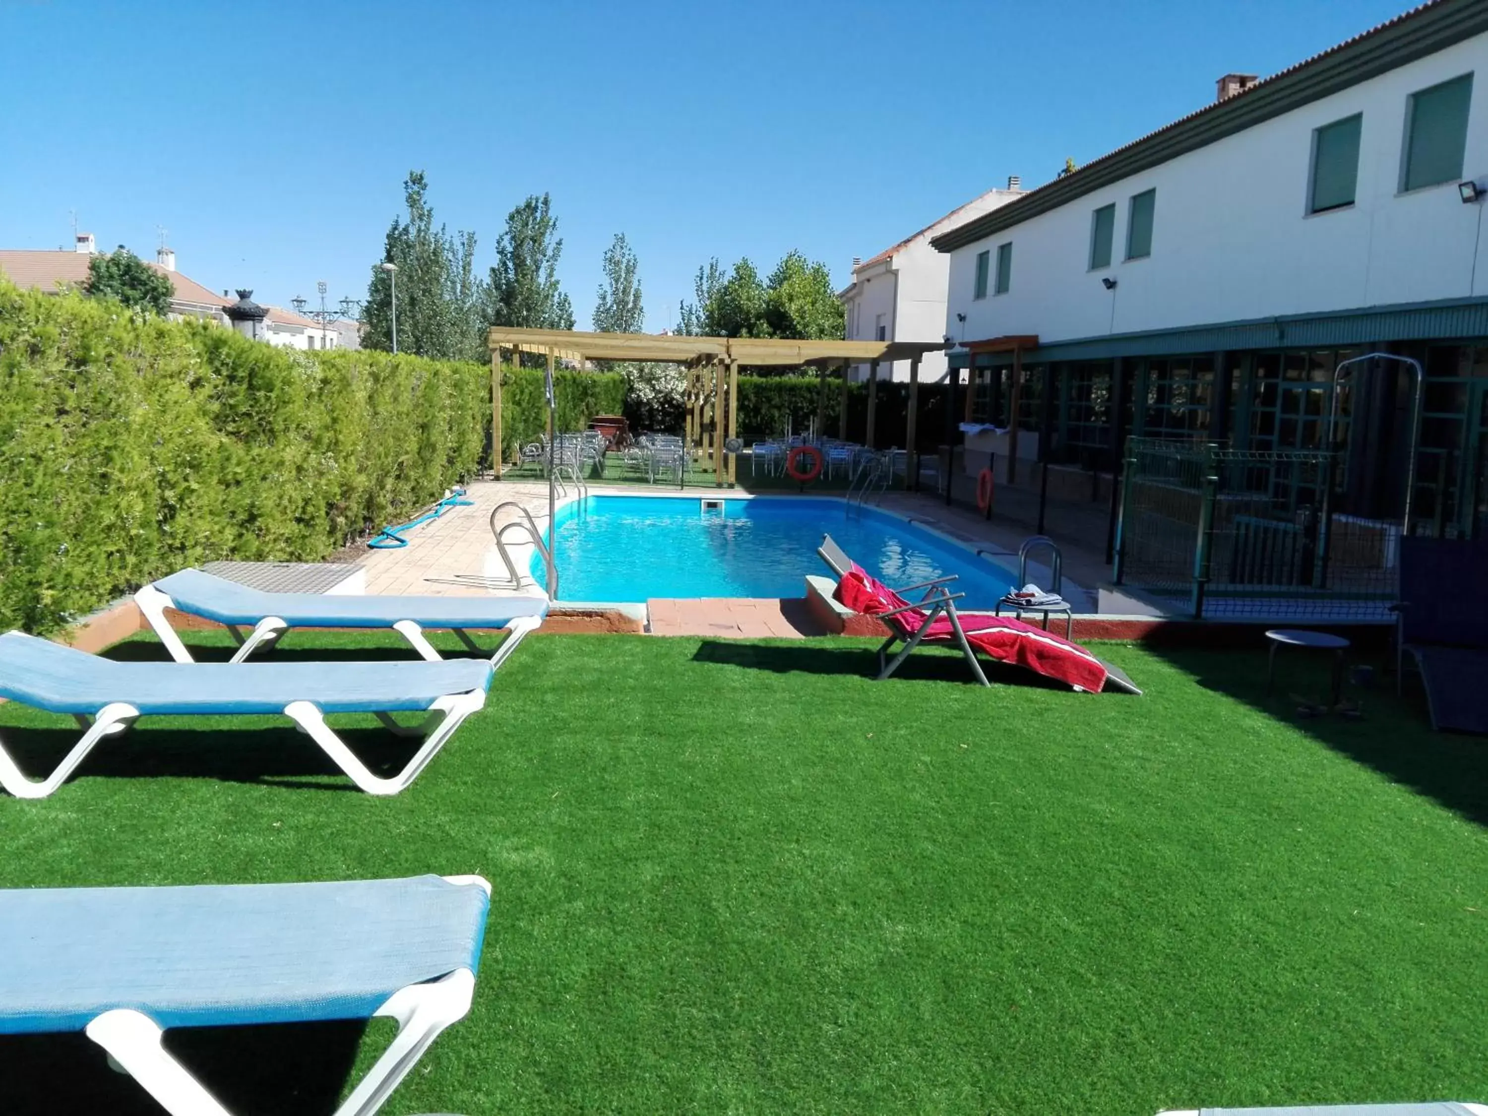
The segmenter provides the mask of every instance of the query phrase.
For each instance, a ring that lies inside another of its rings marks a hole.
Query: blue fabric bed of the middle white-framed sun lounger
[[[427,710],[436,698],[485,689],[485,659],[445,662],[115,662],[24,632],[0,635],[0,698],[52,713],[97,713],[112,701],[141,714]]]

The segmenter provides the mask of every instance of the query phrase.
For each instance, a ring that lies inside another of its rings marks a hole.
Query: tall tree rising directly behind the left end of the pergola
[[[573,304],[558,286],[562,240],[552,201],[536,193],[506,214],[491,268],[493,326],[573,329]]]

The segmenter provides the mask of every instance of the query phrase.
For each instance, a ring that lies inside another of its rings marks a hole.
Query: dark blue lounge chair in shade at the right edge
[[[1431,728],[1488,732],[1488,537],[1400,540],[1396,682],[1421,671]]]

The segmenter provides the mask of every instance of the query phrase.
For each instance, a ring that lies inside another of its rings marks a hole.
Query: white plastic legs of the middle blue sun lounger
[[[369,795],[396,795],[418,778],[418,772],[429,766],[429,760],[445,745],[445,741],[454,735],[464,719],[472,713],[478,713],[484,705],[485,690],[475,689],[436,698],[429,707],[423,725],[418,726],[403,726],[393,720],[391,714],[378,713],[376,719],[397,735],[424,737],[423,745],[414,753],[414,757],[408,760],[403,769],[387,778],[373,775],[351,753],[345,741],[326,723],[320,707],[314,702],[292,701],[284,707],[284,716],[295,722],[296,729],[315,741],[330,756],[330,760],[347,772],[351,781],[362,790]],[[86,729],[82,740],[73,744],[71,750],[62,756],[61,763],[57,765],[52,774],[42,780],[27,778],[6,750],[4,741],[0,740],[0,787],[4,787],[15,798],[46,798],[67,781],[67,777],[88,757],[88,753],[94,750],[98,741],[104,737],[115,737],[124,732],[138,719],[140,711],[122,701],[104,705],[91,719],[77,714],[77,723]]]

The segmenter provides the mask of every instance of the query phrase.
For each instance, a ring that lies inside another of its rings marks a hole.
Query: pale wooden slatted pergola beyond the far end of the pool
[[[719,487],[738,481],[738,454],[728,455],[728,478],[723,476],[725,442],[738,436],[740,366],[744,368],[815,368],[820,375],[817,394],[817,430],[826,423],[827,376],[842,369],[842,393],[838,402],[838,432],[847,430],[847,369],[869,366],[868,378],[868,445],[873,446],[873,426],[878,403],[878,366],[884,362],[909,362],[909,432],[911,476],[917,466],[915,412],[920,397],[920,362],[926,353],[945,345],[942,341],[784,341],[775,338],[695,338],[674,333],[588,333],[562,329],[516,329],[493,326],[487,333],[491,350],[491,445],[493,467],[501,476],[501,359],[510,351],[545,356],[549,371],[558,360],[585,368],[591,360],[682,365],[686,371],[687,440],[714,467]],[[549,437],[555,432],[549,430]]]

